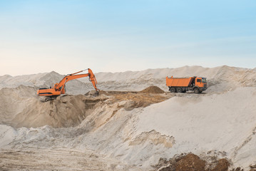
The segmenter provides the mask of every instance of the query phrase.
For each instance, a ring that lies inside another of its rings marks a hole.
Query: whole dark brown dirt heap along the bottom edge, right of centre
[[[215,159],[215,157],[212,158]],[[214,167],[211,167],[213,165]],[[206,162],[198,155],[189,153],[187,155],[175,155],[170,160],[160,158],[158,164],[152,167],[158,171],[227,171],[230,162],[225,158]]]

